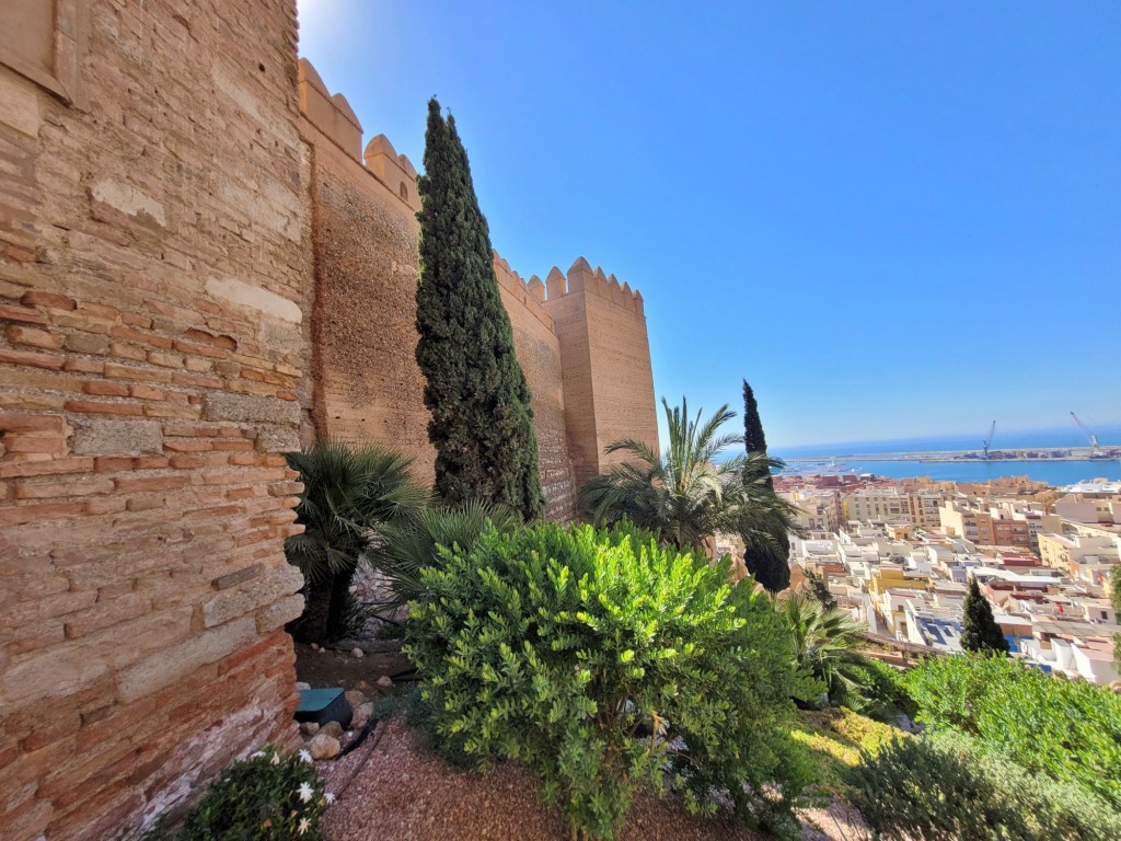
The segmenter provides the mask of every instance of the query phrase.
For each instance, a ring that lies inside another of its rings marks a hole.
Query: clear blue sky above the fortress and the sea
[[[419,168],[455,114],[494,247],[646,297],[655,390],[772,446],[1121,423],[1121,2],[299,0]]]

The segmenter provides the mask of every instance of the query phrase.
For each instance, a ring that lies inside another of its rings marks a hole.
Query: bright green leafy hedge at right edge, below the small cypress
[[[1029,770],[1121,807],[1121,695],[1002,656],[929,659],[907,685],[919,721],[975,736]]]

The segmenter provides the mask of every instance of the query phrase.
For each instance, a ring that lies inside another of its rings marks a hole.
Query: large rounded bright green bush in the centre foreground
[[[442,555],[405,650],[446,747],[526,763],[585,837],[612,838],[637,788],[667,783],[694,811],[723,798],[796,829],[808,773],[787,722],[804,678],[770,601],[730,585],[726,563],[624,526],[490,529]]]

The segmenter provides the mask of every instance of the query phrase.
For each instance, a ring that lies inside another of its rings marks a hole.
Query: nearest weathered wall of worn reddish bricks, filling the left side
[[[0,64],[6,841],[113,838],[293,733],[311,432],[294,2],[41,8],[82,46],[53,93]]]

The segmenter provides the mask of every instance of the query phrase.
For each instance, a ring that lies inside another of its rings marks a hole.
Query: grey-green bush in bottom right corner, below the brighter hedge
[[[874,838],[1108,841],[1121,817],[1081,786],[1031,774],[946,732],[900,738],[842,773]]]

